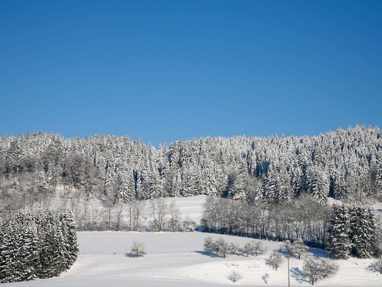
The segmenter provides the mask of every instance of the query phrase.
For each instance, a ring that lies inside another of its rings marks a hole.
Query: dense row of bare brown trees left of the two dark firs
[[[331,212],[308,193],[285,204],[208,197],[203,207],[201,225],[206,232],[277,241],[301,238],[319,248],[324,248]]]

